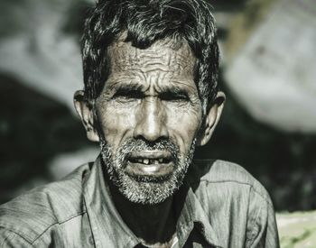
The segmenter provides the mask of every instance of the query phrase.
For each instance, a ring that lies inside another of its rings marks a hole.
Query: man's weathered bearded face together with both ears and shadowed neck
[[[225,95],[203,116],[187,43],[157,41],[140,50],[116,41],[110,74],[95,106],[75,95],[88,139],[100,142],[111,196],[125,224],[145,245],[170,247],[172,196],[190,166],[195,144],[209,141]],[[93,106],[93,105],[92,105]]]

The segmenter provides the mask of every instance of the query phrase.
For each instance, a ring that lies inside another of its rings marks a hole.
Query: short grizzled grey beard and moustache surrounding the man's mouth
[[[173,144],[172,144],[173,145]],[[170,145],[170,146],[172,146]],[[130,149],[126,149],[130,148]],[[136,147],[136,149],[135,149]],[[191,164],[195,148],[195,140],[187,156],[179,152],[174,146],[168,149],[166,145],[162,151],[171,151],[172,161],[166,161],[167,166],[157,166],[150,173],[144,169],[139,162],[128,161],[126,158],[132,151],[142,151],[142,146],[123,145],[113,156],[111,148],[106,142],[101,142],[101,155],[107,171],[107,176],[117,190],[129,201],[143,204],[155,205],[162,203],[181,187],[186,172]],[[148,149],[148,147],[145,147]],[[154,148],[155,151],[157,148]],[[125,152],[127,151],[127,152]],[[147,173],[148,172],[148,173]]]

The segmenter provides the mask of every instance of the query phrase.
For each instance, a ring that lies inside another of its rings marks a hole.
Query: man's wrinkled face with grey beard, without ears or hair
[[[189,46],[158,41],[148,49],[116,41],[110,74],[96,101],[101,154],[129,200],[156,204],[181,186],[201,124]]]

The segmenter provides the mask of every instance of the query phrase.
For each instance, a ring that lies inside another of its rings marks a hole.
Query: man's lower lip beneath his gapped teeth
[[[131,176],[135,175],[161,177],[167,176],[170,173],[172,173],[173,162],[159,164],[144,164],[128,161],[125,170],[127,174],[130,174]]]

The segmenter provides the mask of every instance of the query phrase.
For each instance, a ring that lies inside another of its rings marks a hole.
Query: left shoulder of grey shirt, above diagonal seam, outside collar
[[[81,215],[82,180],[89,170],[85,164],[65,179],[34,188],[0,206],[0,228],[32,243],[52,225]]]

